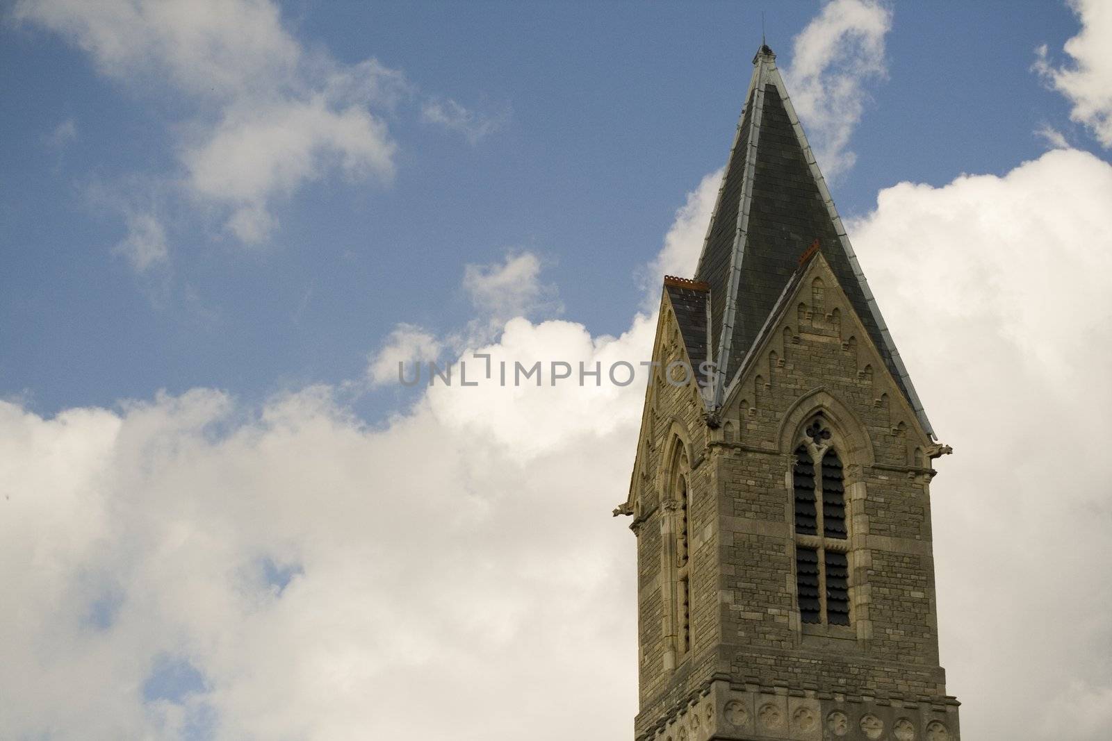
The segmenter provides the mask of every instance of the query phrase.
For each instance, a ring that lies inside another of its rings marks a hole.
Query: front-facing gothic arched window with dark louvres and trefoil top
[[[821,418],[807,427],[794,455],[792,491],[800,619],[805,623],[848,625],[848,531],[842,459]]]

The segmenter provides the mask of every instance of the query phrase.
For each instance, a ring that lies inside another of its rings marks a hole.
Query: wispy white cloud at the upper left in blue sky
[[[394,173],[383,112],[408,91],[404,76],[309,52],[270,0],[21,0],[14,12],[105,74],[183,96],[193,116],[179,128],[181,187],[246,243],[266,240],[276,202],[307,182]]]

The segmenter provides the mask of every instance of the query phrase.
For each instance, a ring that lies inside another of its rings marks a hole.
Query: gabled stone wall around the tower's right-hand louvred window
[[[939,698],[924,451],[930,441],[825,261],[738,382],[714,445],[723,521],[723,635],[737,682]],[[821,391],[818,391],[821,389]],[[808,398],[810,397],[810,398]],[[801,400],[802,403],[801,403]],[[845,467],[853,624],[803,625],[795,602],[791,451],[821,410]]]

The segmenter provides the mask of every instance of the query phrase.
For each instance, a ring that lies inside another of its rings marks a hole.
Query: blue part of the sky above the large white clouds
[[[843,216],[901,180],[1002,173],[1045,149],[1041,123],[1093,147],[1030,71],[1035,47],[1075,31],[1074,14],[1010,7],[896,9],[887,79],[868,86],[852,141],[857,164],[835,181]],[[49,413],[159,389],[259,398],[337,382],[397,322],[451,328],[467,310],[464,266],[507,250],[544,258],[566,318],[620,332],[641,300],[634,269],[725,160],[762,10],[786,66],[811,3],[284,6],[307,47],[341,63],[375,58],[418,89],[384,114],[394,181],[308,182],[281,199],[272,236],[247,247],[166,193],[169,259],[146,276],[112,254],[126,226],[97,193],[170,189],[175,132],[200,107],[158,80],[106,77],[66,38],[9,22],[0,388]],[[426,96],[498,126],[468,143],[419,120]],[[51,143],[67,122],[72,136]],[[368,399],[364,413],[391,403]]]

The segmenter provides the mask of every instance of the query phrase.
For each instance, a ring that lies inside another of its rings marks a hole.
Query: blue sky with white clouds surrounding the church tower
[[[758,3],[18,0],[0,738],[628,738],[643,387]],[[966,738],[1112,725],[1112,4],[768,3],[943,442]]]

